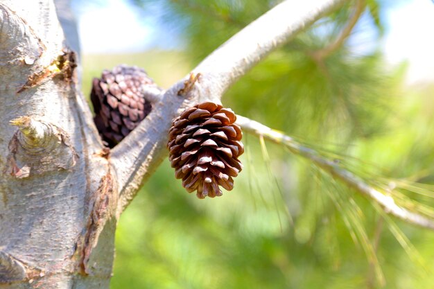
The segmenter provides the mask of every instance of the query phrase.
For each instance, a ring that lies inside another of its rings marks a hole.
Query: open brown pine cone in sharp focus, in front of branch
[[[201,103],[186,109],[169,131],[169,160],[182,186],[197,191],[198,198],[222,195],[243,168],[238,156],[244,152],[241,129],[232,110],[216,103]]]

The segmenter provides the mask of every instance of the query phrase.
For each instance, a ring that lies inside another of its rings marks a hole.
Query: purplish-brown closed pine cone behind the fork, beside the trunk
[[[126,137],[152,109],[149,87],[158,89],[144,69],[119,65],[94,78],[90,98],[96,128],[110,148]]]

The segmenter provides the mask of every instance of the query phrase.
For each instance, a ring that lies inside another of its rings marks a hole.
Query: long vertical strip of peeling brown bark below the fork
[[[105,175],[94,193],[94,200],[91,202],[92,210],[87,221],[85,234],[77,244],[80,254],[80,270],[83,274],[89,274],[89,258],[92,250],[98,244],[98,238],[103,231],[108,219],[114,216],[116,200],[114,193],[114,181],[110,170]]]

